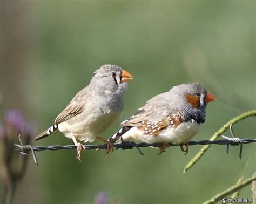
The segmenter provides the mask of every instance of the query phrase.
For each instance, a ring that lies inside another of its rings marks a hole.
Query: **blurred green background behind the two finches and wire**
[[[1,1],[0,107],[20,109],[35,135],[52,125],[93,71],[116,64],[132,73],[120,119],[173,85],[198,81],[217,97],[194,140],[208,139],[226,121],[255,109],[255,1]],[[240,138],[255,138],[255,118],[234,126]],[[225,133],[230,136],[229,132]],[[99,141],[95,142],[100,144]],[[68,145],[62,134],[33,146]],[[29,155],[14,203],[93,203],[106,192],[110,203],[201,203],[234,185],[252,144],[214,145],[190,171],[179,147],[162,155],[143,148]],[[245,178],[256,168],[255,148]],[[1,188],[1,187],[0,187]],[[3,194],[3,191],[0,190]],[[1,195],[1,194],[0,194]],[[252,197],[251,186],[240,197]]]

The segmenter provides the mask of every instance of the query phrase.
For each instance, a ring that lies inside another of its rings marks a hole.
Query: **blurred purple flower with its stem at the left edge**
[[[9,110],[4,116],[3,123],[0,123],[0,146],[4,151],[0,151],[0,176],[4,181],[4,203],[11,203],[16,186],[22,179],[27,158],[14,151],[14,144],[18,144],[18,135],[25,145],[29,145],[32,138],[32,128],[24,119],[22,113],[17,110]]]

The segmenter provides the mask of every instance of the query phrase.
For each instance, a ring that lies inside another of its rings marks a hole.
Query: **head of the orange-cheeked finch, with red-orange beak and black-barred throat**
[[[180,84],[173,86],[169,96],[176,98],[178,110],[186,121],[196,120],[197,123],[204,123],[206,106],[208,102],[216,98],[198,83]]]

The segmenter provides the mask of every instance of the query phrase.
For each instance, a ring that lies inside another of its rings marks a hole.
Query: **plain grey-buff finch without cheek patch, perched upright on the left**
[[[80,161],[82,148],[77,141],[93,142],[116,121],[124,108],[124,94],[127,81],[132,76],[116,65],[103,65],[96,70],[90,84],[80,90],[66,108],[57,116],[54,124],[35,139],[40,140],[52,133],[62,132],[77,145],[77,158]],[[106,149],[107,153],[109,149]]]

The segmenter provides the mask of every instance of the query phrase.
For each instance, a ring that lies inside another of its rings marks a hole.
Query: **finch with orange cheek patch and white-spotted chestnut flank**
[[[187,154],[188,141],[205,123],[206,106],[216,98],[198,83],[180,84],[168,92],[154,96],[138,112],[121,123],[122,128],[109,141],[136,139],[162,142],[159,154],[169,143],[180,145]],[[186,149],[183,146],[186,145]]]

